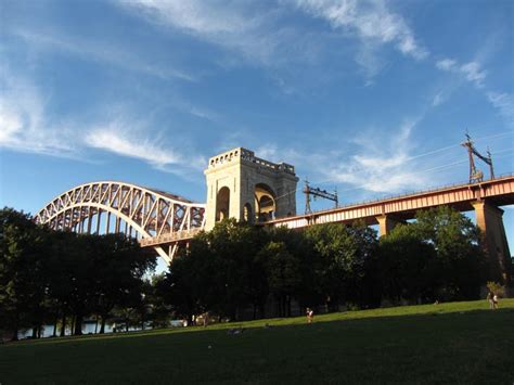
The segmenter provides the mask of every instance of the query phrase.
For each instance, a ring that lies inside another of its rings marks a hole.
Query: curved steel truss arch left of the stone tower
[[[205,204],[136,184],[101,181],[56,196],[36,222],[77,233],[124,233],[153,246],[167,264],[205,226]],[[159,242],[152,242],[158,239]],[[181,242],[183,241],[183,242]]]

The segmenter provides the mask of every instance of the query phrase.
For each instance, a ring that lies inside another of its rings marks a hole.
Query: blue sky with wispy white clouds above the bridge
[[[514,171],[513,25],[510,0],[1,0],[0,204],[95,180],[205,202],[235,146],[348,204],[465,181],[466,129]]]

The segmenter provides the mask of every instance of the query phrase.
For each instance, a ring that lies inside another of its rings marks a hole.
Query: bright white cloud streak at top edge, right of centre
[[[416,60],[428,55],[403,17],[391,13],[383,1],[296,0],[295,3],[307,13],[326,20],[335,29],[347,30],[363,40],[394,43],[401,53]]]

